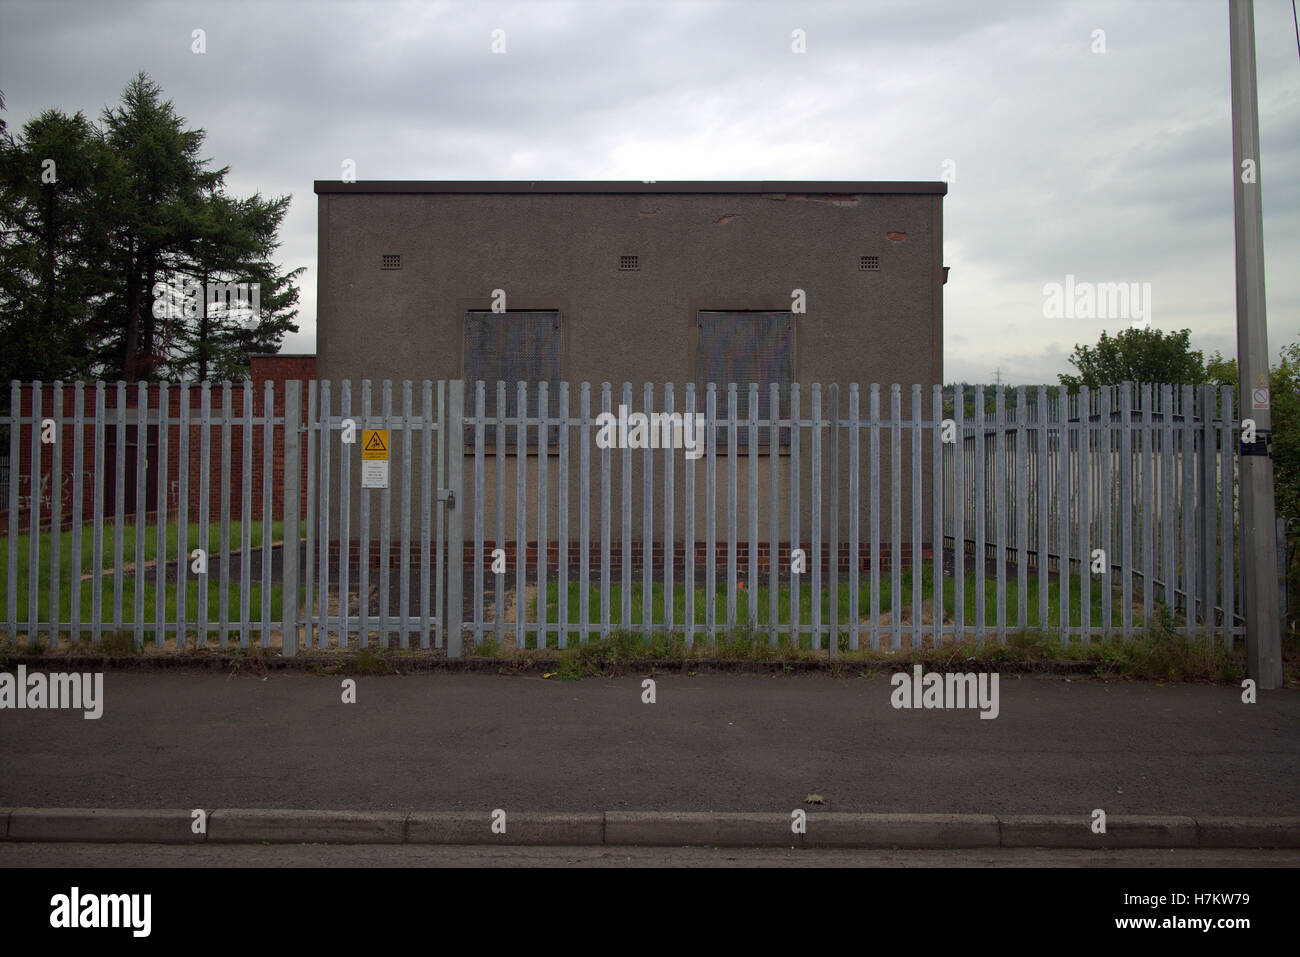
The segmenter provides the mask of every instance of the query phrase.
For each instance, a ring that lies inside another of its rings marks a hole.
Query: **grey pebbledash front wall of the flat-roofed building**
[[[399,395],[403,380],[419,384],[463,378],[467,313],[491,309],[493,290],[502,290],[507,309],[560,313],[560,378],[573,390],[573,415],[577,384],[584,381],[592,384],[593,397],[599,395],[601,382],[611,382],[615,410],[623,382],[633,384],[633,410],[641,408],[644,384],[654,384],[658,400],[662,385],[672,382],[681,410],[685,385],[697,381],[697,315],[714,309],[789,311],[792,293],[798,289],[803,290],[807,309],[793,316],[794,380],[803,394],[803,417],[810,413],[812,382],[841,385],[844,415],[848,384],[861,384],[863,416],[866,386],[880,382],[883,417],[889,415],[889,384],[897,382],[902,385],[904,416],[910,415],[911,384],[919,384],[923,417],[928,419],[931,386],[944,381],[946,190],[941,182],[317,181],[317,374],[333,384],[335,415],[342,380],[352,382],[355,413],[364,378],[372,380],[376,399],[382,380],[391,380]],[[627,256],[636,256],[636,269],[620,268]],[[393,268],[395,263],[399,268]],[[473,410],[472,389],[467,382],[467,411]],[[741,384],[740,393],[744,413],[748,384]],[[725,384],[719,384],[720,413],[725,402]],[[697,407],[705,407],[703,393]],[[904,514],[909,514],[911,503],[907,446],[904,442],[901,456]],[[888,501],[890,463],[888,450],[883,451],[883,495]],[[465,454],[471,452],[467,447]],[[551,489],[558,481],[554,452],[549,463]],[[572,455],[576,459],[576,450]],[[803,455],[806,486],[806,445]],[[615,455],[615,469],[621,465],[619,459]],[[784,454],[776,456],[783,472],[783,527],[789,494],[785,459]],[[764,450],[759,477],[764,515],[766,469],[771,463]],[[640,468],[638,454],[632,481],[633,534],[638,540],[644,494]],[[682,468],[679,459],[679,495]],[[867,471],[863,465],[864,481],[870,481]],[[576,469],[571,469],[573,473]],[[356,475],[354,468],[354,515]],[[507,475],[504,493],[512,523],[514,464]],[[656,467],[656,482],[660,478],[662,464]],[[846,502],[842,464],[838,478],[841,501]],[[571,482],[576,488],[576,476]],[[619,489],[618,471],[614,482]],[[725,467],[720,464],[719,502],[725,502],[724,484]],[[489,516],[494,485],[494,469],[489,468],[482,490]],[[701,462],[697,516],[703,515],[703,485]],[[927,458],[926,502],[931,488]],[[552,510],[554,498],[552,493]],[[811,527],[810,498],[805,490],[803,536]],[[337,475],[332,501],[338,501]],[[576,503],[577,495],[571,494],[569,501]],[[468,510],[473,503],[463,507]],[[656,502],[656,515],[660,507],[662,501]],[[536,508],[536,481],[530,481],[528,515],[534,533]],[[842,533],[848,531],[846,511],[841,510]],[[396,508],[394,528],[395,514]],[[723,510],[718,521],[722,532]],[[682,523],[684,510],[679,506],[679,540],[684,537]],[[699,540],[701,523],[697,518]],[[662,521],[656,524],[662,528]],[[569,528],[577,528],[576,518],[571,516]],[[493,538],[490,518],[488,529]],[[503,538],[511,541],[512,553],[514,540],[529,541],[529,534],[511,525]],[[910,540],[910,531],[904,538]],[[660,547],[659,541],[655,547]]]

